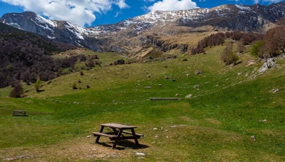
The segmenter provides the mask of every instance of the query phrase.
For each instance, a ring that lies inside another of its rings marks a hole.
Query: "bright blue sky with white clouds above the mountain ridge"
[[[114,24],[150,11],[212,8],[222,4],[269,5],[285,0],[0,0],[0,16],[33,11],[78,26]]]

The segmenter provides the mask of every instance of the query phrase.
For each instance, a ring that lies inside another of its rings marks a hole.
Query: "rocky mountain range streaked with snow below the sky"
[[[81,28],[67,21],[52,21],[33,12],[4,14],[0,21],[16,28],[41,34],[64,43],[88,47],[95,51],[132,53],[138,47],[167,51],[187,49],[187,44],[167,43],[161,39],[147,38],[175,36],[202,26],[222,31],[264,32],[269,24],[285,16],[285,2],[261,6],[222,5],[212,9],[187,11],[152,11],[149,14],[121,21],[118,24]],[[211,29],[211,30],[212,30]]]

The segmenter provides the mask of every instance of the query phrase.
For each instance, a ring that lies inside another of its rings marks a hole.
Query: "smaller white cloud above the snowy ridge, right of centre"
[[[197,8],[197,4],[192,0],[162,0],[148,7],[150,11],[177,11],[195,8]]]

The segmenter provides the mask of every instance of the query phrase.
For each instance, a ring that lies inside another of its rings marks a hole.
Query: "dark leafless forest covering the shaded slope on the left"
[[[0,88],[19,81],[48,81],[64,75],[63,69],[72,71],[78,56],[53,59],[50,55],[76,48],[0,23]]]

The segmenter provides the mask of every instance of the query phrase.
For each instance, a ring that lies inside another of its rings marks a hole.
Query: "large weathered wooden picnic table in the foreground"
[[[111,141],[115,141],[112,148],[115,148],[115,146],[117,146],[118,144],[118,141],[123,139],[134,139],[135,144],[137,146],[140,146],[140,144],[138,143],[138,138],[142,137],[143,135],[135,133],[135,128],[137,128],[136,126],[127,126],[119,123],[102,123],[100,124],[100,126],[101,126],[100,132],[91,132],[93,133],[94,136],[97,136],[95,143],[98,143],[100,136],[106,136],[110,138]],[[112,131],[103,133],[105,127],[111,128]],[[130,131],[125,131],[125,130],[130,130]]]

